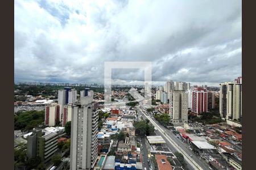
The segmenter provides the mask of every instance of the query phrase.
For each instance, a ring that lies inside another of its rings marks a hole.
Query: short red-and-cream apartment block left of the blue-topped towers
[[[47,126],[55,126],[59,122],[61,122],[60,105],[59,104],[46,105],[46,109],[44,111],[44,124]]]

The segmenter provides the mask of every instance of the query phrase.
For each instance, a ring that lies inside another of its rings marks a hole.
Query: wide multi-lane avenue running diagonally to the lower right
[[[197,158],[197,156],[193,156],[193,158],[189,156],[189,155],[193,155],[191,150],[189,150],[184,145],[183,142],[177,140],[176,135],[172,134],[170,130],[163,128],[163,126],[159,125],[158,122],[155,122],[154,120],[152,120],[152,118],[144,114],[141,111],[141,108],[137,107],[137,109],[141,114],[144,115],[144,117],[146,117],[151,122],[152,125],[158,128],[159,134],[161,134],[161,136],[166,139],[166,142],[169,143],[169,146],[170,145],[172,146],[171,147],[172,150],[179,151],[181,152],[181,154],[183,154],[185,161],[188,163],[188,165],[191,165],[192,169],[209,169],[209,166],[206,163],[204,163],[202,160]]]

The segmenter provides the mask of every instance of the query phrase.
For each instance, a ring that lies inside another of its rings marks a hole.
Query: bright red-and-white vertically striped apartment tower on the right
[[[208,112],[208,92],[205,88],[193,88],[191,111],[197,114]]]

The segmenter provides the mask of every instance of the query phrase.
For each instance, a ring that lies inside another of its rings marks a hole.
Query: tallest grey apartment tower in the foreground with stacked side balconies
[[[98,111],[92,103],[93,96],[80,98],[72,105],[71,164],[70,169],[91,169],[98,155]]]

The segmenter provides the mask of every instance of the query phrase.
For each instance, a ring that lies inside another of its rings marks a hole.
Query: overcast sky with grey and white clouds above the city
[[[15,82],[104,83],[105,61],[150,61],[159,83],[242,74],[241,1],[14,2]],[[113,82],[143,75],[112,71]]]

